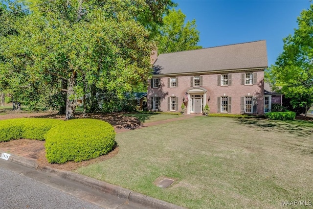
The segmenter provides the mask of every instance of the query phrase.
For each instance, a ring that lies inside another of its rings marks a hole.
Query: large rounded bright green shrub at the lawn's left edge
[[[46,158],[63,164],[97,158],[110,152],[115,131],[107,122],[96,119],[73,119],[52,127],[46,134]]]

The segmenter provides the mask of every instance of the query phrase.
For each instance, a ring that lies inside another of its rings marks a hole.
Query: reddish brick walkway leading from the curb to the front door
[[[159,124],[164,124],[164,123],[169,123],[177,120],[183,120],[187,118],[191,118],[194,116],[199,116],[199,115],[185,115],[182,117],[178,118],[172,118],[172,119],[167,119],[167,120],[160,120],[156,122],[150,122],[150,123],[144,123],[142,126],[139,128],[145,128],[149,126],[155,126]],[[123,133],[127,131],[132,131],[130,129],[126,128],[115,128],[116,133]],[[0,147],[0,150],[9,154],[14,154],[18,156],[22,156],[25,158],[30,158],[30,159],[38,159],[40,153],[42,153],[45,150],[45,141],[38,141],[38,140],[27,140],[27,139],[19,139],[16,140],[14,144],[11,146],[6,146],[6,147]]]

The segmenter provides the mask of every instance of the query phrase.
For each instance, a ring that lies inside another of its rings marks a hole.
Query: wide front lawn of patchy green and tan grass
[[[116,135],[119,153],[78,173],[190,209],[313,201],[313,123],[193,117]],[[161,177],[175,179],[162,189]]]

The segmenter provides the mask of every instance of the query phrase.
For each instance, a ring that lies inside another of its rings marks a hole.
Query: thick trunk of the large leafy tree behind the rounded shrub
[[[74,102],[74,86],[76,82],[76,72],[73,71],[67,82],[67,109],[65,119],[72,119],[75,115],[75,102]]]

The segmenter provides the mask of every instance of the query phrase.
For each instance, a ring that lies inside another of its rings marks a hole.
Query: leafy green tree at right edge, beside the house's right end
[[[275,66],[269,68],[269,80],[306,114],[313,104],[313,4],[301,12],[297,23],[294,34],[284,39]]]

